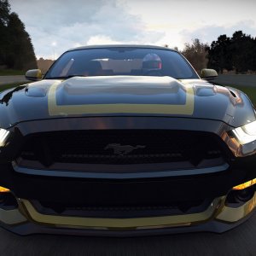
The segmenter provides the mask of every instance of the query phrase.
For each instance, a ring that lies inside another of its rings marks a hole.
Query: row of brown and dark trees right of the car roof
[[[231,38],[220,35],[210,46],[194,39],[192,44],[185,44],[182,53],[197,72],[205,67],[218,73],[256,72],[256,38],[242,31],[234,32]]]

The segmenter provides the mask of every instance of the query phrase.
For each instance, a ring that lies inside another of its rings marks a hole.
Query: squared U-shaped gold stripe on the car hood
[[[84,104],[84,105],[57,105],[56,90],[60,81],[49,88],[48,109],[49,115],[72,115],[86,113],[156,113],[156,114],[184,114],[194,113],[193,85],[186,85],[186,102],[183,105],[172,104]]]

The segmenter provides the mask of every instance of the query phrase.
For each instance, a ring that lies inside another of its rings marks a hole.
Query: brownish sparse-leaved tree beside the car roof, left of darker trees
[[[207,44],[203,44],[195,38],[192,44],[186,43],[182,54],[189,60],[195,70],[201,73],[202,68],[207,67]]]

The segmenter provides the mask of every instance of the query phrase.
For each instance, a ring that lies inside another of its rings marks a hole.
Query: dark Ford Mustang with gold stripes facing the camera
[[[224,232],[256,205],[256,115],[177,51],[69,49],[0,93],[0,225],[20,235]]]

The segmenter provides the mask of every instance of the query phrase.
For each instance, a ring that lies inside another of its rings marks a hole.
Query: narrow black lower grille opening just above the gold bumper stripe
[[[204,212],[212,199],[197,201],[172,201],[166,205],[122,205],[122,206],[88,206],[81,204],[56,203],[49,201],[32,201],[37,211],[42,214],[78,216],[87,218],[140,218],[153,216],[170,216]]]

